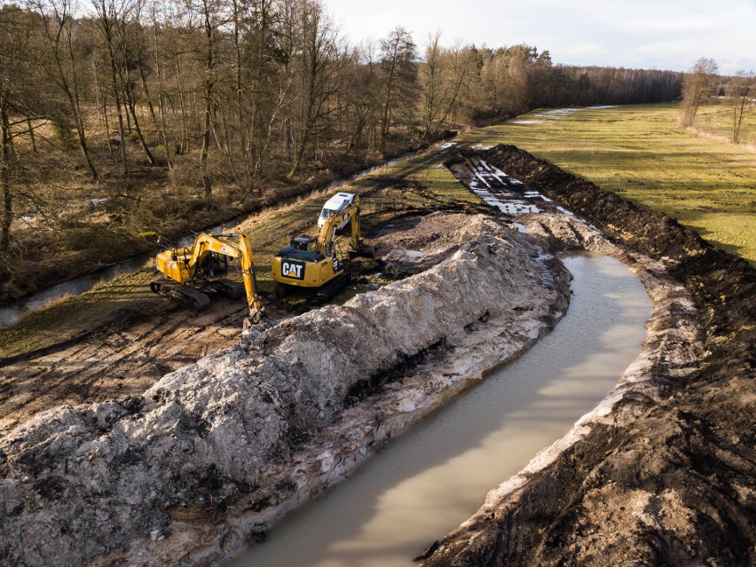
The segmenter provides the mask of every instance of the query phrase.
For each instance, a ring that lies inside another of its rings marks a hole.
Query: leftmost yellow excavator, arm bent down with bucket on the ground
[[[239,260],[243,284],[226,278],[229,258]],[[192,246],[169,248],[157,256],[157,269],[168,278],[150,283],[154,293],[165,295],[193,309],[210,304],[209,293],[233,298],[246,293],[248,318],[244,327],[256,325],[264,316],[257,295],[252,246],[246,234],[203,232]]]

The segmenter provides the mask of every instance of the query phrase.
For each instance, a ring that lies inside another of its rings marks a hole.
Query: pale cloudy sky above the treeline
[[[554,63],[689,71],[714,59],[721,75],[756,72],[756,0],[323,0],[350,43],[398,26],[422,52],[441,43],[527,43]]]

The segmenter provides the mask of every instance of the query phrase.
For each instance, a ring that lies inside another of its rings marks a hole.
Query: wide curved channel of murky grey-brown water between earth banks
[[[562,437],[638,355],[651,302],[617,260],[571,256],[571,307],[520,358],[394,439],[225,567],[410,567]]]

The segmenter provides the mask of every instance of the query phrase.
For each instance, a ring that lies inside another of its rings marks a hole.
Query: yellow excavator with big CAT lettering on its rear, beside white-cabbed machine
[[[346,222],[351,224],[351,253],[366,253],[359,239],[359,199],[336,210],[320,228],[318,238],[297,236],[287,248],[280,249],[273,257],[273,280],[280,289],[287,286],[317,288],[322,299],[329,299],[349,282],[344,264],[338,256],[336,229]]]

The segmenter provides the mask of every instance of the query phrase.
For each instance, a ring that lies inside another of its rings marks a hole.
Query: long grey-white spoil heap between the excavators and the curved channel
[[[444,218],[413,221],[435,235],[423,251],[393,252],[424,272],[0,437],[0,563],[232,555],[555,323],[560,263],[507,224]]]

